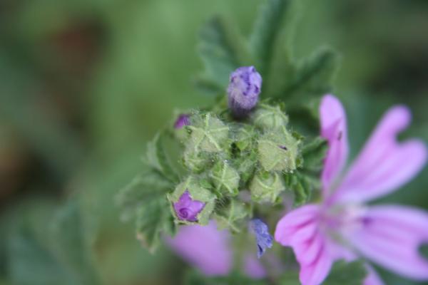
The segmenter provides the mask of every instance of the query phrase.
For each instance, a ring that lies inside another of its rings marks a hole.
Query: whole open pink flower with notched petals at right
[[[418,253],[428,242],[428,214],[411,207],[363,204],[412,180],[427,160],[423,142],[397,142],[397,134],[409,125],[409,110],[391,108],[344,174],[347,125],[337,98],[322,98],[320,120],[329,145],[321,175],[322,202],[286,214],[275,229],[276,241],[295,252],[302,284],[321,284],[334,261],[357,257],[410,279],[428,280],[428,261]],[[369,265],[367,269],[365,285],[382,284]]]

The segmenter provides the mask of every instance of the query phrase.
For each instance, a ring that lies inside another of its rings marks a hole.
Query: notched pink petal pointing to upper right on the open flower
[[[422,170],[427,147],[419,140],[397,142],[407,128],[407,108],[391,108],[382,118],[335,194],[340,202],[363,202],[397,190]]]

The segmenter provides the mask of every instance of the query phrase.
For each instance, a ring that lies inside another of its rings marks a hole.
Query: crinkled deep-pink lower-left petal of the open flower
[[[303,285],[321,284],[336,259],[319,222],[320,207],[310,204],[286,214],[275,229],[275,240],[294,250]]]

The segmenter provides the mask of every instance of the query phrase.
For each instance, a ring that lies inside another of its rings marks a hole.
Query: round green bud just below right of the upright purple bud
[[[254,124],[262,130],[277,130],[288,123],[288,117],[280,106],[260,104],[253,114]]]

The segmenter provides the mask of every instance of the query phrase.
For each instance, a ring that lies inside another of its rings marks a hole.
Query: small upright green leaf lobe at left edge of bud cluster
[[[155,138],[147,144],[148,165],[158,170],[165,178],[172,182],[178,182],[178,174],[168,160],[167,152],[163,147],[165,132],[157,133]]]

